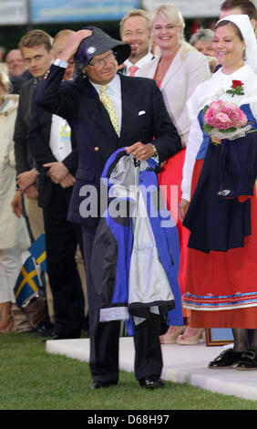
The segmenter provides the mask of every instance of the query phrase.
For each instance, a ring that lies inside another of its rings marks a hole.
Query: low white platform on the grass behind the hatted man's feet
[[[163,354],[161,377],[163,380],[187,382],[211,392],[257,401],[257,371],[209,370],[207,368],[208,362],[223,351],[224,347],[207,347],[205,343],[201,343],[196,346],[165,344],[161,345],[161,348]],[[88,362],[89,340],[48,340],[46,341],[46,351]],[[121,337],[119,340],[119,368],[131,372],[133,366],[133,339]]]

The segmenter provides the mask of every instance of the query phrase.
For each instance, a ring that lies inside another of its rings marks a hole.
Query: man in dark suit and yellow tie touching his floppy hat
[[[67,60],[74,54],[77,80],[62,83]],[[99,322],[101,302],[94,288],[94,267],[90,265],[99,214],[87,218],[80,214],[85,199],[82,186],[91,184],[99,189],[105,162],[118,148],[126,147],[137,161],[158,154],[159,162],[181,149],[180,137],[156,83],[117,74],[118,65],[129,54],[128,44],[108,37],[99,28],[79,30],[69,38],[36,94],[38,105],[67,119],[77,141],[79,161],[68,218],[82,224],[93,388],[118,383],[119,322]],[[105,90],[108,101],[102,98]],[[164,385],[159,379],[162,357],[158,319],[146,319],[135,327],[134,334],[135,376],[141,387],[150,389]]]

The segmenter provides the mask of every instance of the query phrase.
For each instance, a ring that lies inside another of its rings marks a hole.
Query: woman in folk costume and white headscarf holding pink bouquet
[[[180,201],[180,219],[190,229],[184,305],[191,310],[191,326],[232,329],[233,349],[209,368],[252,370],[257,369],[257,76],[248,65],[256,49],[249,17],[221,19],[213,47],[221,68],[188,102],[194,120]],[[225,116],[221,100],[227,102]],[[232,109],[240,120],[224,130]]]

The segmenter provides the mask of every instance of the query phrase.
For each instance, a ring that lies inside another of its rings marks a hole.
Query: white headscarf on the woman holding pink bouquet
[[[257,73],[257,41],[252,24],[248,15],[228,15],[220,19],[221,21],[231,21],[239,27],[245,42],[245,64],[248,64]]]

